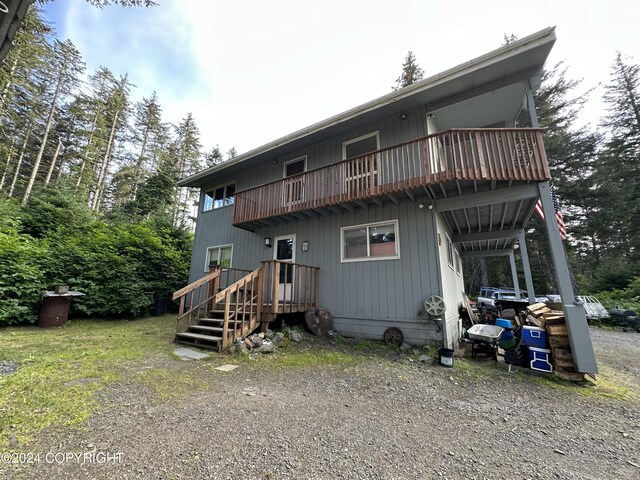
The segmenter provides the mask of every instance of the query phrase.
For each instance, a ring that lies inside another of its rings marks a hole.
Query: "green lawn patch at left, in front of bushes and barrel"
[[[0,449],[9,448],[11,437],[25,448],[46,428],[84,424],[99,407],[96,392],[126,378],[134,360],[169,356],[174,320],[80,320],[54,329],[0,330],[0,360],[19,365],[0,375]]]

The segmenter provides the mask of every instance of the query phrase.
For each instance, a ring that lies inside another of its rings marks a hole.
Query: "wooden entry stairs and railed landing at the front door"
[[[175,341],[222,352],[277,313],[316,308],[318,272],[318,267],[277,260],[262,262],[254,271],[214,268],[173,294],[173,300],[180,300]],[[291,278],[283,291],[280,278]],[[284,292],[296,293],[286,298]]]

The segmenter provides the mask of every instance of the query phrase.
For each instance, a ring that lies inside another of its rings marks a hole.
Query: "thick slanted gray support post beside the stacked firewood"
[[[573,287],[571,286],[571,279],[569,277],[569,266],[567,265],[564,246],[562,245],[562,239],[558,231],[558,223],[553,208],[549,182],[539,183],[538,189],[540,191],[540,201],[542,202],[547,235],[549,236],[551,257],[558,279],[558,290],[560,297],[562,297],[562,310],[564,311],[564,318],[569,333],[571,353],[573,354],[576,369],[582,373],[597,373],[598,367],[589,334],[587,316],[584,307],[582,305],[576,305],[575,302]]]

